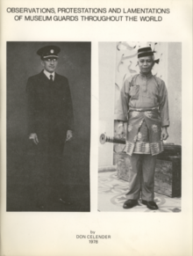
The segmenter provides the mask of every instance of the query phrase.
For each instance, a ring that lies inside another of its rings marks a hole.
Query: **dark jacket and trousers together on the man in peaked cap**
[[[50,186],[57,187],[52,194],[60,192],[63,147],[67,131],[74,129],[73,107],[68,79],[57,73],[52,82],[43,71],[29,77],[26,92],[28,133],[39,139],[38,145],[29,140],[30,179],[38,200],[43,200]]]

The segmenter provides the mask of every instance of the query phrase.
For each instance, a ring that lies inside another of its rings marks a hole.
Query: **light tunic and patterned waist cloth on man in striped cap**
[[[152,74],[127,78],[115,119],[127,122],[125,150],[128,155],[161,153],[161,127],[169,126],[168,91],[161,78]]]

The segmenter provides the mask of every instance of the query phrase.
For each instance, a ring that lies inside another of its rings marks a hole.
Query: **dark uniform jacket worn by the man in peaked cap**
[[[29,77],[26,86],[28,133],[45,139],[53,133],[66,139],[74,129],[73,107],[67,77],[55,73],[53,84],[43,70]]]

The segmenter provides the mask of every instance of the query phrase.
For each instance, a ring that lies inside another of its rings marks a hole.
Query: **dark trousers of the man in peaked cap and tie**
[[[32,143],[32,142],[31,142]],[[64,166],[62,166],[62,152],[64,138],[50,135],[49,138],[39,136],[39,144],[32,144],[34,161],[31,168],[31,183],[35,200],[39,203],[56,200],[68,194],[64,187]]]

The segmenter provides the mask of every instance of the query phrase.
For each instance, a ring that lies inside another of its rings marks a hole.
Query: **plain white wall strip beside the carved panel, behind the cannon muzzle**
[[[99,42],[99,135],[114,135],[114,88],[116,43]],[[98,165],[112,165],[113,144],[99,144]]]

